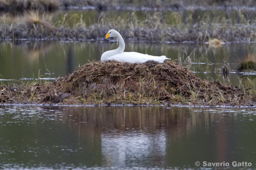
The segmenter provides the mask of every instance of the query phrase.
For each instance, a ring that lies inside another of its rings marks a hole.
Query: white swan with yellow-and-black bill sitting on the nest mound
[[[100,60],[115,60],[119,62],[128,62],[128,63],[144,63],[146,61],[154,60],[159,63],[163,63],[165,60],[171,60],[167,58],[165,55],[162,56],[153,56],[147,54],[141,54],[137,52],[124,52],[125,50],[125,42],[123,37],[116,30],[109,30],[108,34],[101,40],[105,40],[109,37],[116,37],[117,41],[119,41],[119,47],[115,50],[106,51],[101,55]]]

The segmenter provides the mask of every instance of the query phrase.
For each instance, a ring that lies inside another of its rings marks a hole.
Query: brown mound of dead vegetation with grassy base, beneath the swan
[[[0,91],[1,102],[25,103],[252,106],[256,101],[250,89],[202,80],[172,61],[95,61],[53,83]]]

